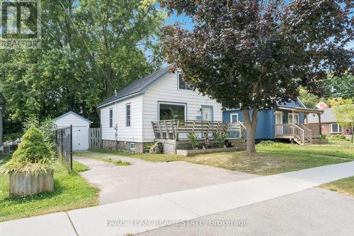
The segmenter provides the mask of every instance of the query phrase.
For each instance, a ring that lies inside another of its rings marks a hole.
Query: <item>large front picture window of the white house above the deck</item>
[[[185,110],[183,103],[159,103],[159,120],[185,120]]]

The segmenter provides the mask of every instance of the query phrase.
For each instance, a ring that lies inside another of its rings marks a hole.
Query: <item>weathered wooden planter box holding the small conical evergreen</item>
[[[17,172],[10,175],[10,196],[18,197],[54,191],[54,171],[40,174]]]

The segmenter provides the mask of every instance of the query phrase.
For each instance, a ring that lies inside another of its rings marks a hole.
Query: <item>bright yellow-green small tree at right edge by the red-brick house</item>
[[[336,121],[342,125],[343,128],[350,128],[352,135],[351,142],[353,142],[354,136],[354,101],[353,99],[331,99],[332,112]]]

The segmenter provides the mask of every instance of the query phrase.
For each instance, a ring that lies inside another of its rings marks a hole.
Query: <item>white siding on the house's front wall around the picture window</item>
[[[145,92],[143,106],[143,142],[154,141],[152,121],[158,120],[158,102],[187,104],[187,120],[196,120],[200,116],[202,105],[213,107],[213,120],[222,121],[222,105],[215,100],[202,96],[198,91],[178,89],[177,73],[166,74]]]

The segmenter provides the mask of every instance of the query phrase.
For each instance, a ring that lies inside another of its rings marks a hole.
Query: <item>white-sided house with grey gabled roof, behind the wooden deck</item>
[[[142,152],[154,142],[152,121],[222,121],[222,105],[193,91],[171,67],[139,79],[98,105],[103,148]]]

